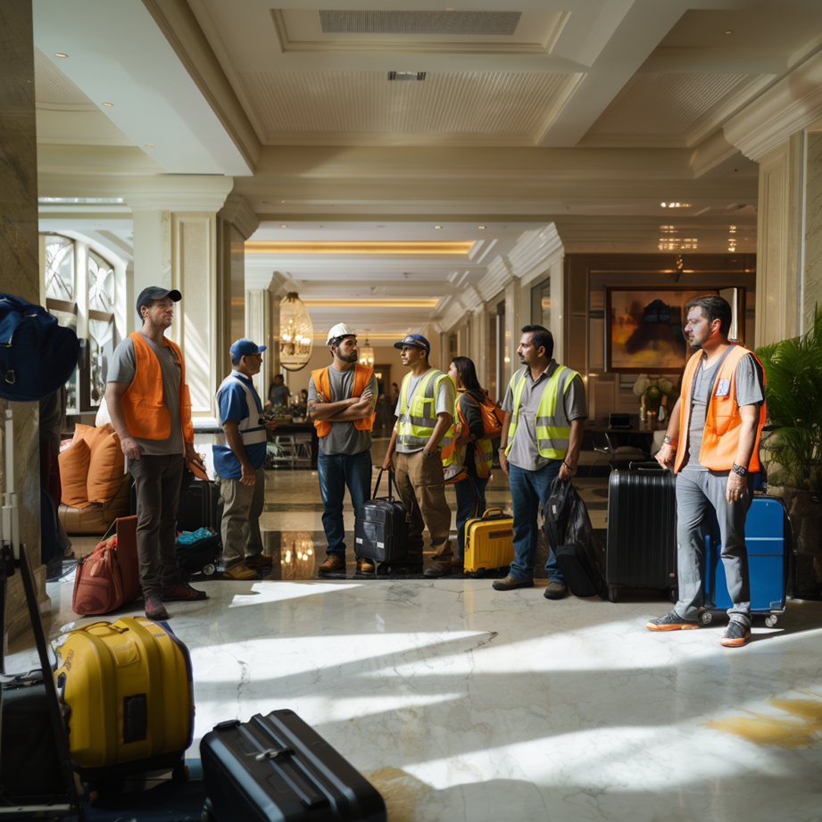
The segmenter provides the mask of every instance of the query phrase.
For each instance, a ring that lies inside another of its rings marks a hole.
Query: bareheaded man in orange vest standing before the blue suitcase
[[[698,349],[685,366],[682,394],[671,411],[668,433],[656,458],[677,473],[679,601],[647,626],[652,631],[699,627],[704,597],[704,523],[716,511],[722,563],[732,607],[719,640],[738,647],[751,638],[751,593],[745,516],[753,475],[760,469],[765,424],[765,375],[760,361],[728,342],[731,306],[722,297],[698,297],[685,306],[685,334]]]

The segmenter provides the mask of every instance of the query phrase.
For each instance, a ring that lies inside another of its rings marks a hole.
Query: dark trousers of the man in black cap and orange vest
[[[143,454],[129,460],[137,492],[137,557],[143,595],[162,594],[179,582],[177,511],[182,454]]]

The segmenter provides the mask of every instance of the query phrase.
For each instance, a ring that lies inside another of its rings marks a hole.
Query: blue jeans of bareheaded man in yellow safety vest
[[[534,578],[536,541],[539,537],[536,513],[540,502],[543,503],[543,508],[547,505],[551,484],[560,473],[562,461],[552,460],[538,471],[527,471],[510,462],[508,465],[514,509],[514,561],[511,562],[510,575],[519,582],[530,582]],[[554,546],[549,545],[545,570],[551,582],[565,585],[565,577],[562,576],[553,549]]]

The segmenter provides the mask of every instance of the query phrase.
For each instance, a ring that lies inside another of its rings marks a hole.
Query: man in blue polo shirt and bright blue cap
[[[265,345],[241,339],[231,346],[231,374],[217,390],[217,413],[226,437],[214,446],[214,469],[220,477],[222,556],[224,576],[252,579],[260,569],[273,565],[262,555],[260,515],[265,504],[265,445],[267,430],[277,423],[266,421],[260,396],[251,378],[260,373]]]

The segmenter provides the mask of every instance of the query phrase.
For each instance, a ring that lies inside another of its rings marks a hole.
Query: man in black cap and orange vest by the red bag
[[[144,288],[137,298],[139,331],[114,350],[105,402],[137,493],[137,555],[145,616],[168,619],[163,602],[203,600],[180,580],[177,512],[185,461],[204,468],[194,448],[186,363],[165,335],[179,291]]]

